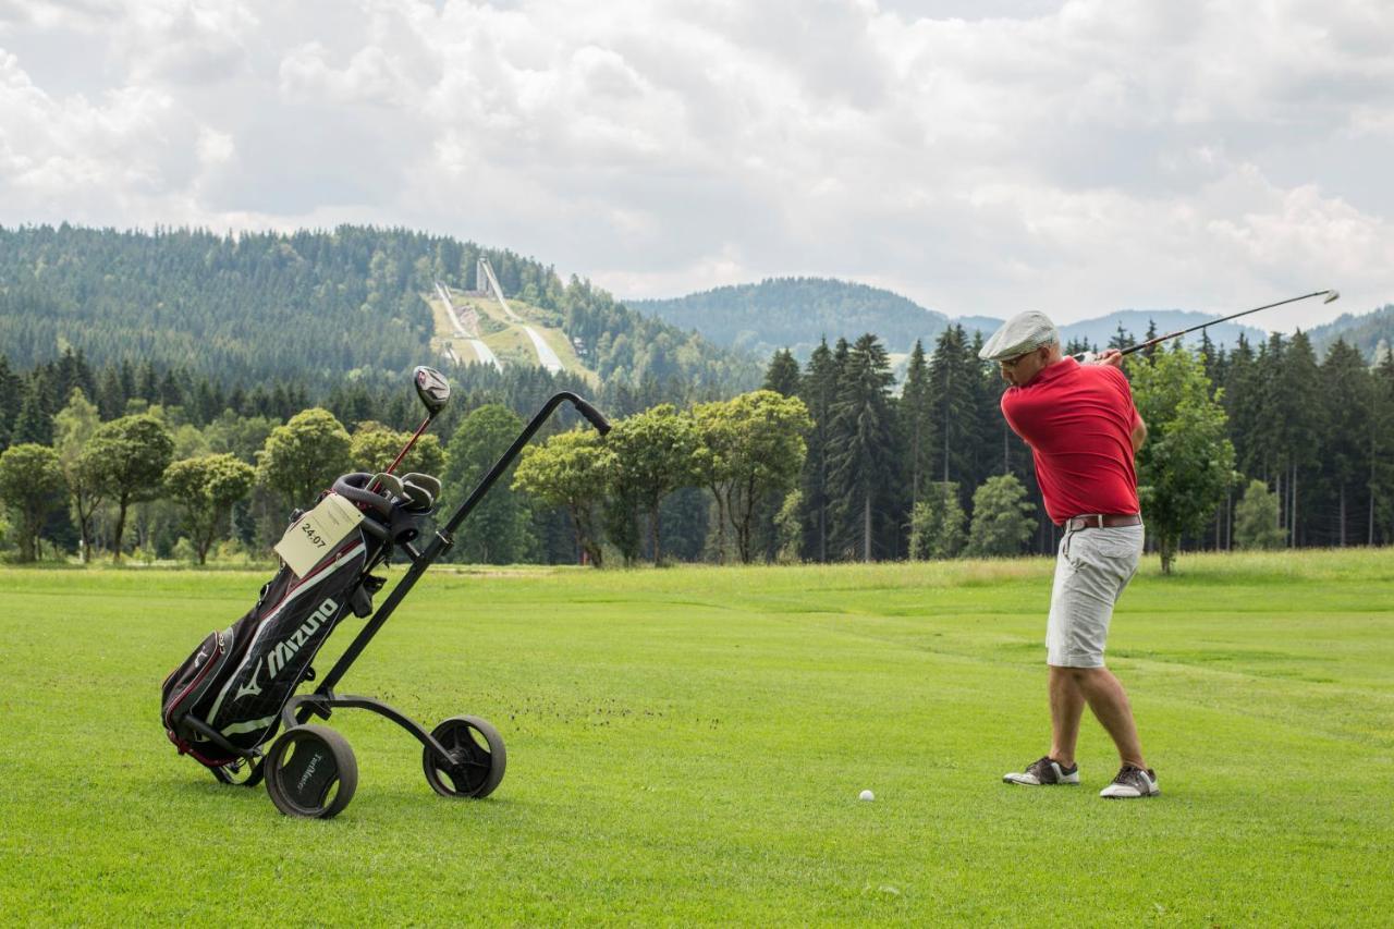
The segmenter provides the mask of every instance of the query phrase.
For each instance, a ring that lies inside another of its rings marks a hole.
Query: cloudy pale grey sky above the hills
[[[1394,303],[1388,0],[0,0],[0,226],[406,226],[619,297]],[[1262,322],[1260,322],[1262,318]]]

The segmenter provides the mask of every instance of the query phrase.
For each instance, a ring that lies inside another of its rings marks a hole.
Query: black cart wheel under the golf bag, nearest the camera
[[[344,737],[323,725],[280,734],[262,762],[270,802],[287,816],[329,819],[358,788],[358,762]]]

